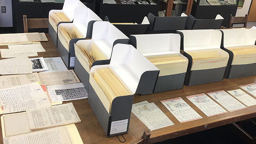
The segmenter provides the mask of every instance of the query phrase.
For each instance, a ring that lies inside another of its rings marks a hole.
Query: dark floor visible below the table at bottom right
[[[255,119],[256,120],[256,119]],[[254,121],[255,121],[254,120]],[[249,120],[237,122],[238,125],[246,129],[252,136],[256,136],[256,125],[251,125]],[[155,144],[251,144],[251,140],[242,138],[241,132],[233,124],[220,126],[204,130],[197,133],[188,134],[174,139],[162,141]]]

